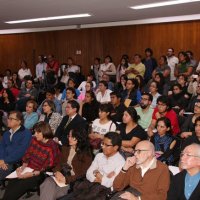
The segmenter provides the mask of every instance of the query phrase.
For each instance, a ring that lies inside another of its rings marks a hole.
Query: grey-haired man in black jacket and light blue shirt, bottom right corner
[[[200,145],[191,144],[181,153],[183,169],[172,178],[167,200],[200,199]]]

